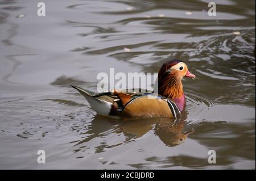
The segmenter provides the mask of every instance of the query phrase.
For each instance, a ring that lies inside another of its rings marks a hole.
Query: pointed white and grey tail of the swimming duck
[[[79,91],[79,93],[82,94],[82,96],[84,96],[85,99],[88,101],[88,103],[90,104],[90,107],[92,107],[92,109],[96,111],[99,115],[109,116],[109,113],[113,105],[112,103],[107,102],[105,100],[94,98],[93,95],[95,95],[95,92],[85,90],[77,86],[71,85],[71,87]]]

